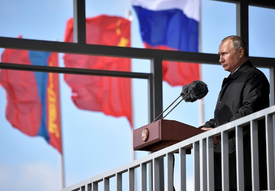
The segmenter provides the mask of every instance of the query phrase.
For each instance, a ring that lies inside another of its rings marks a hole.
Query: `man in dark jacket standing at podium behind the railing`
[[[248,47],[245,41],[239,36],[228,36],[221,41],[219,56],[224,70],[230,72],[224,78],[221,91],[214,111],[214,119],[210,119],[203,126],[202,130],[208,131],[222,124],[254,113],[269,107],[269,82],[263,72],[258,70],[248,60]],[[264,123],[259,123],[259,148],[265,144]],[[233,133],[233,135],[232,135]],[[229,134],[229,178],[230,188],[236,189],[236,151],[234,132]],[[233,137],[233,138],[232,138]],[[245,187],[251,189],[251,151],[250,151],[250,130],[249,126],[244,127],[244,167]],[[264,151],[265,147],[259,149]],[[259,156],[265,153],[259,153]],[[260,186],[261,190],[266,189],[266,162],[259,158]],[[265,168],[265,169],[264,169]],[[221,148],[220,142],[214,147],[214,180],[215,189],[221,189]]]

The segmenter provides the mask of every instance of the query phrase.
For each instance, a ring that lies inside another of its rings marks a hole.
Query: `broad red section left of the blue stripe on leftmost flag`
[[[2,62],[30,65],[27,50],[4,50]],[[13,127],[30,136],[37,135],[42,115],[33,72],[0,70],[0,84],[7,92],[6,118]]]

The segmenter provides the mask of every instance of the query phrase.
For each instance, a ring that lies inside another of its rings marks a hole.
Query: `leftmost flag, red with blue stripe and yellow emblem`
[[[58,54],[6,49],[1,62],[58,66]],[[6,90],[6,118],[29,136],[43,136],[62,153],[59,76],[57,73],[0,70]]]

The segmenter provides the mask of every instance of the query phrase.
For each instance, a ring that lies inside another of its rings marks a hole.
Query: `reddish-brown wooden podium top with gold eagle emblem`
[[[173,120],[160,119],[133,131],[134,151],[159,151],[205,132]]]

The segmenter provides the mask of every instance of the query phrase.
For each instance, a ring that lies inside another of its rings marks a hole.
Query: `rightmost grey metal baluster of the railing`
[[[275,190],[274,179],[274,146],[273,146],[273,115],[265,116],[265,133],[267,144],[267,188]]]

